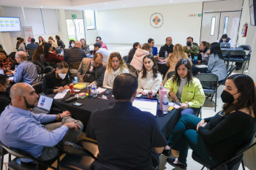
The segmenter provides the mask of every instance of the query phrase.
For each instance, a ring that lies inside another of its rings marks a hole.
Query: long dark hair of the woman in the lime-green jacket
[[[177,85],[179,85],[179,83],[181,82],[181,77],[179,77],[178,75],[178,67],[181,66],[181,64],[184,64],[184,66],[187,67],[187,84],[189,85],[189,82],[191,82],[192,84],[192,79],[193,79],[192,67],[190,62],[187,59],[181,59],[180,61],[178,61],[178,63],[176,63],[173,83],[175,83],[175,81],[177,80]]]

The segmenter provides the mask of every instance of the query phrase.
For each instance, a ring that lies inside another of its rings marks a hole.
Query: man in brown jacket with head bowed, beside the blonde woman
[[[106,64],[102,60],[100,53],[96,53],[93,58],[83,58],[78,69],[78,82],[94,82],[102,86],[106,71]]]

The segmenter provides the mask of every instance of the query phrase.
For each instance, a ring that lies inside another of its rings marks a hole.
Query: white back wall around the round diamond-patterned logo
[[[104,43],[143,44],[152,38],[156,45],[164,45],[167,36],[173,38],[173,44],[186,45],[188,36],[199,43],[201,17],[189,14],[201,14],[202,7],[203,2],[99,11],[98,33]],[[163,15],[161,28],[150,25],[155,12]]]

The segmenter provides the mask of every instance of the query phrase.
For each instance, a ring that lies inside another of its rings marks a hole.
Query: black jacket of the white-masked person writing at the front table
[[[68,74],[65,79],[56,78],[55,71],[49,72],[45,75],[44,81],[42,82],[42,92],[46,95],[52,94],[53,90],[56,89],[54,87],[64,87],[65,85],[69,85],[70,80]]]

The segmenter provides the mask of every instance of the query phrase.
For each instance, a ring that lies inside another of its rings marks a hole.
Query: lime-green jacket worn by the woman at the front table
[[[169,93],[171,91],[173,91],[173,93],[175,93],[175,95],[177,96],[178,85],[176,81],[173,83],[173,78],[165,83],[164,88],[170,89],[167,91],[168,98],[170,98]],[[172,101],[172,98],[170,98],[170,101]],[[183,87],[181,103],[185,104],[186,101],[188,102],[189,107],[194,108],[199,108],[203,106],[204,102],[206,101],[206,96],[205,93],[203,93],[203,88],[200,80],[195,77],[192,78],[192,83],[190,82],[189,85],[186,84]]]

